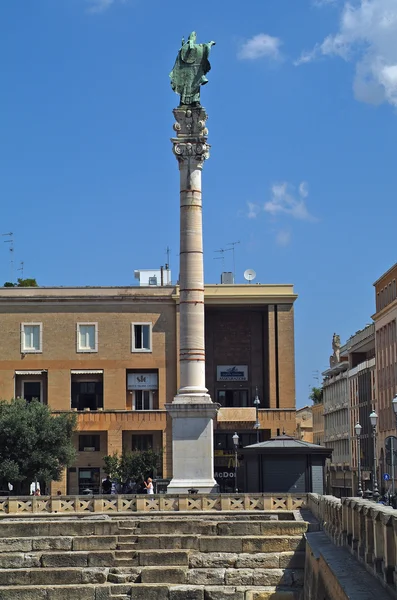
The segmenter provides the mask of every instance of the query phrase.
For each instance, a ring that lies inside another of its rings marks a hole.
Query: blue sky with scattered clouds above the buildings
[[[297,404],[370,321],[396,261],[395,0],[13,0],[0,3],[1,231],[41,285],[178,273],[168,74],[182,36],[216,40],[205,273],[294,283]],[[10,279],[9,244],[0,273]],[[231,252],[225,253],[232,270]],[[20,273],[18,273],[20,274]]]

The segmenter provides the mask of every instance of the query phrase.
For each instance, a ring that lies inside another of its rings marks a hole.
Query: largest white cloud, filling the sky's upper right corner
[[[339,56],[355,63],[353,90],[357,100],[388,102],[397,107],[397,2],[351,0],[341,10],[339,30],[328,35],[296,65],[319,56]]]

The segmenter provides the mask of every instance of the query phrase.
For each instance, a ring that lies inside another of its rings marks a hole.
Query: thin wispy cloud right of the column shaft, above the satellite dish
[[[298,194],[293,186],[284,181],[271,187],[271,199],[265,203],[264,211],[273,217],[287,215],[301,221],[316,221],[307,209],[305,199],[309,194],[306,182],[299,185]]]

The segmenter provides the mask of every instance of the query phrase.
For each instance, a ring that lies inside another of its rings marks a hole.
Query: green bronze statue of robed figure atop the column
[[[211,69],[208,57],[215,42],[196,44],[196,32],[189,35],[182,46],[170,73],[171,87],[180,95],[180,106],[200,106],[200,87],[208,83],[206,74]]]

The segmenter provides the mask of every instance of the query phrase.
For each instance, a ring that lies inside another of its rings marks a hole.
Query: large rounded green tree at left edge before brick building
[[[72,437],[76,415],[53,416],[48,406],[23,398],[0,402],[0,479],[16,494],[29,494],[35,481],[59,481],[76,458]]]

